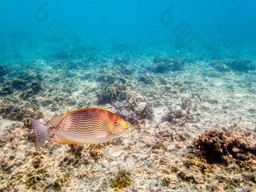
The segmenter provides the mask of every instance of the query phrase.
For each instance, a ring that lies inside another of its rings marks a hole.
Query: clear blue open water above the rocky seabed
[[[62,38],[71,30],[80,39],[79,44],[73,42],[72,46],[136,44],[145,50],[149,46],[172,54],[187,49],[198,54],[187,44],[194,35],[200,37],[196,40],[201,41],[200,53],[209,47],[218,53],[243,52],[247,45],[251,47],[256,42],[256,2],[249,0],[1,1],[0,5],[3,61],[18,56],[22,59],[24,53],[38,55],[49,47],[61,48]],[[61,22],[59,27],[65,29],[57,31],[52,27],[50,31],[56,18],[57,23]],[[183,34],[185,37],[174,32],[181,22],[186,26],[180,27],[189,31],[188,35]]]

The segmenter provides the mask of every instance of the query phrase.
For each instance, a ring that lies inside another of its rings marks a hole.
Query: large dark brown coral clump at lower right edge
[[[256,142],[241,133],[209,130],[194,139],[193,145],[209,163],[248,165],[256,157]]]

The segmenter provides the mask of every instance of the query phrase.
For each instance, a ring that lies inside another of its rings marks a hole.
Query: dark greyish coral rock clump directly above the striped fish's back
[[[97,94],[99,104],[114,103],[129,98],[126,86],[123,84],[114,84],[103,87],[102,92]]]

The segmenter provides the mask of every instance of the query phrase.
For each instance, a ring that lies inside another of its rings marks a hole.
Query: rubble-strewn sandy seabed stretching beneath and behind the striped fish
[[[0,191],[256,190],[253,60],[88,49],[2,63]],[[130,129],[35,151],[29,117],[88,107]]]

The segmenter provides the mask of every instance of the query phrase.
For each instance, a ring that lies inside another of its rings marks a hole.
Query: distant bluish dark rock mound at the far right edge
[[[248,72],[255,69],[255,64],[248,59],[222,59],[215,60],[209,63],[212,68],[216,69],[218,72]]]

